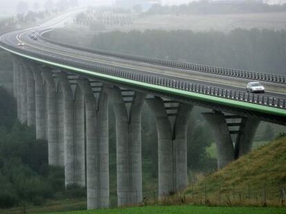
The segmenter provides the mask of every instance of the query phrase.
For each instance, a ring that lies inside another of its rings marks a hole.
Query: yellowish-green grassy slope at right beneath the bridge
[[[232,162],[184,193],[202,203],[279,204],[283,187],[286,187],[286,136]]]

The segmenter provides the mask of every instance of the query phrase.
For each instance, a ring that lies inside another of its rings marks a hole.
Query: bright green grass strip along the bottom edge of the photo
[[[251,214],[274,214],[274,213],[286,213],[285,208],[256,208],[256,207],[220,207],[220,206],[141,206],[132,208],[116,208],[116,209],[102,209],[96,211],[73,211],[65,212],[62,214],[109,214],[109,213],[148,213],[148,214],[196,214],[196,213],[211,213],[211,214],[240,214],[240,213],[251,213]]]

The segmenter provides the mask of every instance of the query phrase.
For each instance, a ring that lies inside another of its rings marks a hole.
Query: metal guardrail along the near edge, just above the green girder
[[[116,76],[120,78],[126,78],[133,81],[140,81],[142,83],[149,83],[153,85],[160,85],[164,87],[170,87],[173,89],[180,89],[188,92],[194,92],[199,94],[206,94],[211,96],[216,96],[220,98],[227,98],[231,100],[238,100],[246,103],[254,103],[258,105],[265,105],[269,107],[276,107],[279,109],[286,109],[286,99],[275,98],[273,96],[266,96],[260,94],[251,94],[247,92],[240,92],[236,90],[223,89],[220,87],[209,87],[207,85],[189,83],[187,81],[177,81],[171,78],[160,78],[158,76],[150,76],[146,74],[139,74],[135,72],[126,72],[120,69],[113,69],[108,67],[103,67],[99,65],[93,65],[90,63],[82,63],[74,61],[72,59],[59,58],[53,55],[44,55],[37,52],[31,52],[28,50],[19,49],[17,47],[7,45],[1,41],[0,43],[3,47],[9,50],[14,50],[15,52],[20,52],[22,54],[28,54],[29,56],[34,56],[36,58],[44,58],[47,61],[53,63],[61,63],[71,67],[76,67],[79,69],[86,69],[88,71],[97,72],[100,74],[106,74],[109,76]]]

